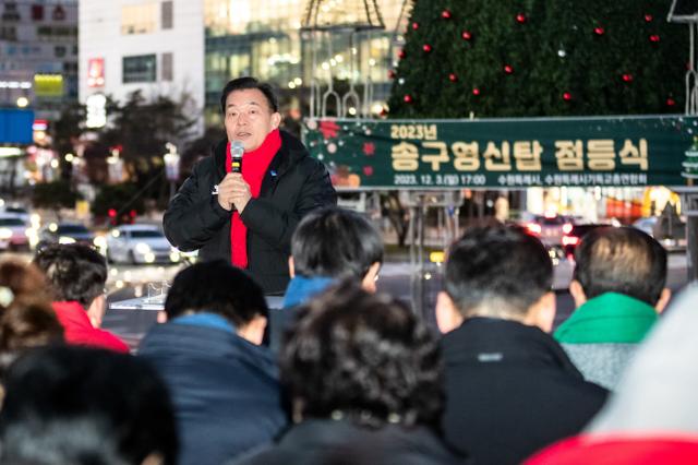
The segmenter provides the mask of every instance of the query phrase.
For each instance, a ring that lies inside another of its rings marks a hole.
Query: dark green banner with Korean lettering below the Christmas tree
[[[686,186],[698,118],[309,119],[339,189]]]

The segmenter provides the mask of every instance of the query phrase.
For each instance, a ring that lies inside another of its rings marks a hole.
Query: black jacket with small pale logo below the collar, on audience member
[[[520,464],[577,434],[606,398],[538,327],[470,318],[444,336],[442,348],[446,441],[477,464]]]

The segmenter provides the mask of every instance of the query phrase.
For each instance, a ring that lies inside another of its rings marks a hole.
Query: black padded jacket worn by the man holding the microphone
[[[202,159],[165,212],[169,241],[183,251],[198,250],[200,260],[230,261],[231,212],[213,192],[226,176],[226,141]],[[281,131],[281,148],[272,159],[260,196],[242,212],[248,227],[248,272],[266,294],[284,293],[289,281],[291,235],[310,211],[337,203],[325,166],[303,144]]]

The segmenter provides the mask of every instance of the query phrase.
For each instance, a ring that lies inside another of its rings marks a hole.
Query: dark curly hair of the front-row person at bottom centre
[[[280,366],[303,417],[339,410],[368,426],[437,421],[438,347],[405,305],[345,282],[299,312]]]

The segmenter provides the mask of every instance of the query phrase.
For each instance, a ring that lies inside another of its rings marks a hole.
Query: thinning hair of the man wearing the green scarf
[[[639,229],[591,230],[575,250],[575,261],[574,278],[588,299],[618,293],[654,306],[666,284],[666,251]]]

